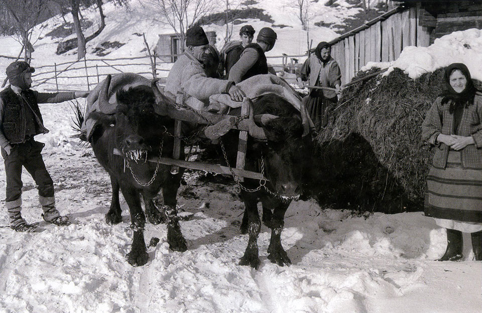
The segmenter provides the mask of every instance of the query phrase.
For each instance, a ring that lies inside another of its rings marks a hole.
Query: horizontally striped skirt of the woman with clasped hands
[[[432,166],[425,186],[425,215],[482,223],[482,170],[462,169],[459,151],[450,150],[445,170]]]

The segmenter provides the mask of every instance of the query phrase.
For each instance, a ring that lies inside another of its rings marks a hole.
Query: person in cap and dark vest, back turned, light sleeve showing
[[[268,74],[268,62],[265,52],[275,46],[277,35],[269,27],[262,28],[256,38],[256,44],[245,47],[239,60],[231,67],[228,80],[235,83],[260,74]]]

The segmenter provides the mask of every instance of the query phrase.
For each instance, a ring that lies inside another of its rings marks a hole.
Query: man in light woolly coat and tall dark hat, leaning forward
[[[209,41],[204,30],[195,26],[186,32],[186,50],[174,63],[166,80],[164,90],[173,99],[177,92],[184,92],[184,102],[196,110],[209,105],[209,96],[229,93],[233,101],[243,101],[244,92],[232,81],[207,77],[202,63],[209,52]]]

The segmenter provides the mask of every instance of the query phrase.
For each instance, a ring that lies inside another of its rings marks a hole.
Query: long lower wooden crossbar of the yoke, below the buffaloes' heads
[[[114,154],[115,155],[122,155],[121,151],[118,149],[114,149]],[[174,160],[170,158],[149,158],[147,159],[149,162],[154,162],[154,163],[161,163],[165,165],[171,165],[171,166],[176,166],[179,168],[185,168],[185,169],[192,169],[192,170],[198,170],[198,171],[206,171],[206,172],[213,172],[213,173],[218,173],[218,174],[228,174],[232,175],[231,171],[229,170],[228,167],[216,165],[216,164],[208,164],[208,163],[202,163],[202,162],[193,162],[193,161],[184,161],[184,160]],[[245,178],[251,178],[251,179],[262,179],[265,181],[269,181],[266,177],[263,177],[261,173],[256,173],[256,172],[251,172],[247,170],[239,170],[236,168],[232,168],[232,171],[234,172],[234,175],[239,176],[239,177],[245,177]]]

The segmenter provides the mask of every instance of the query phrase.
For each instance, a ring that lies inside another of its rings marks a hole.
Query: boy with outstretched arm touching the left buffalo
[[[33,231],[21,215],[22,168],[32,175],[38,185],[39,201],[44,220],[57,226],[70,224],[55,208],[54,185],[42,159],[44,143],[34,136],[47,133],[40,114],[39,103],[59,103],[86,97],[88,92],[42,93],[30,89],[35,69],[27,62],[16,61],[6,70],[10,86],[0,92],[0,145],[7,176],[6,206],[10,227],[16,231]]]

